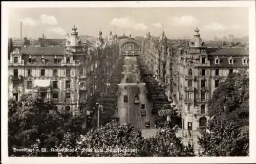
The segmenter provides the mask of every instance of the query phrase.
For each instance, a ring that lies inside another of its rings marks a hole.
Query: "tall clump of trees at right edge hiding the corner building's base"
[[[204,155],[246,156],[249,153],[249,75],[245,70],[229,75],[208,104],[211,118],[200,145]],[[228,121],[228,122],[227,122]],[[231,131],[230,131],[231,129]],[[217,136],[207,133],[218,133]],[[218,139],[218,140],[217,140]],[[216,148],[212,143],[218,145]],[[226,148],[223,148],[227,145]],[[219,150],[218,150],[219,149]],[[220,151],[221,150],[221,151]]]

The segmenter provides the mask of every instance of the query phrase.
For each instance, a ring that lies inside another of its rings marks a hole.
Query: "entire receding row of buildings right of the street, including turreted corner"
[[[159,40],[147,33],[142,41],[145,66],[165,95],[175,102],[182,115],[184,129],[198,130],[209,120],[207,103],[219,83],[239,69],[249,68],[249,50],[241,43],[227,42],[209,47],[199,29],[190,41],[167,41],[164,32]],[[179,44],[174,50],[173,46]]]

